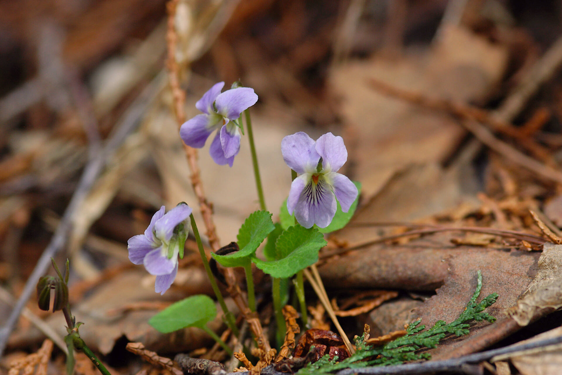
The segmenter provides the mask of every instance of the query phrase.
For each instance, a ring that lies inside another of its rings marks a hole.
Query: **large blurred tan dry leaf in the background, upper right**
[[[411,163],[441,161],[464,134],[446,115],[374,92],[366,85],[367,79],[469,102],[487,95],[503,75],[504,48],[466,29],[445,34],[434,49],[406,54],[397,61],[377,56],[348,63],[330,77],[334,90],[343,97],[345,121],[356,133],[354,144],[348,144],[348,137],[346,145],[350,159],[357,163],[354,177],[362,182],[367,197]]]

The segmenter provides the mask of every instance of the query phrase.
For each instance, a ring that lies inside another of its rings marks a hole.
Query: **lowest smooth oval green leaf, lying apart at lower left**
[[[198,294],[178,301],[154,315],[148,321],[158,332],[169,333],[185,327],[203,327],[216,317],[214,301]]]

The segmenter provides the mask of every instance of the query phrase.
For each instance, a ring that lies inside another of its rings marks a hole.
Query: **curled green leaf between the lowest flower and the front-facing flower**
[[[274,229],[269,212],[253,212],[238,231],[238,247],[241,250],[226,255],[213,253],[211,256],[224,267],[244,267],[250,263],[250,257]]]

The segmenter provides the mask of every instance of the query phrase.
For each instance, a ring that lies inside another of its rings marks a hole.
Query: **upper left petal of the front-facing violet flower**
[[[314,173],[320,160],[320,155],[314,147],[314,139],[305,132],[299,131],[287,135],[281,141],[283,160],[289,168],[297,173]]]

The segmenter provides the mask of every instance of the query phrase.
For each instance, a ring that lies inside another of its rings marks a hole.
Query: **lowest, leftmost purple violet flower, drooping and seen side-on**
[[[130,237],[127,242],[129,260],[144,264],[156,275],[155,291],[164,294],[178,272],[178,254],[185,245],[189,231],[191,208],[180,203],[167,213],[162,206],[153,216],[143,235]]]

